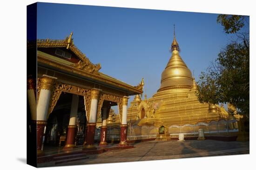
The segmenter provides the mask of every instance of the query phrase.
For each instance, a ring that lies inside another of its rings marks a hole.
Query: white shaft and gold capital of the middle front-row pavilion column
[[[89,123],[96,123],[97,119],[97,108],[98,108],[98,98],[100,94],[100,89],[93,88],[91,90],[91,108],[90,108],[90,116]]]

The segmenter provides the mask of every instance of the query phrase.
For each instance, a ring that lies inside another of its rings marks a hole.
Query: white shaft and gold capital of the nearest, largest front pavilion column
[[[43,75],[40,79],[40,94],[37,103],[37,120],[47,120],[49,101],[56,77]]]

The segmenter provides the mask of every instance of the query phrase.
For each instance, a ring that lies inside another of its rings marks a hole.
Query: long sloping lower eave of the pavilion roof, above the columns
[[[43,57],[39,54],[37,56],[37,62],[46,64],[48,66],[51,66],[51,67],[54,67],[54,68],[57,68],[60,70],[64,70],[66,72],[70,72],[71,74],[77,74],[80,76],[88,77],[88,78],[91,78],[91,79],[94,79],[94,80],[97,80],[100,82],[108,83],[114,87],[126,89],[129,91],[130,95],[143,93],[143,91],[141,89],[135,88],[134,86],[131,86],[127,83],[121,82],[113,77],[111,77],[112,79],[105,78],[105,77],[101,76],[101,72],[99,72],[99,74],[93,74],[88,71],[84,71],[82,69],[75,68],[74,66],[51,60],[51,59]]]

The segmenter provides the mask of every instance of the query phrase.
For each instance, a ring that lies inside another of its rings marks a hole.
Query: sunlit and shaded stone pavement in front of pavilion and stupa
[[[249,154],[249,142],[223,142],[216,140],[148,141],[136,143],[135,148],[107,151],[89,155],[88,159],[58,164],[102,164],[144,160],[175,159],[183,157],[206,157]],[[47,164],[45,164],[47,166]],[[49,166],[49,165],[48,165]],[[50,165],[53,166],[53,165]]]

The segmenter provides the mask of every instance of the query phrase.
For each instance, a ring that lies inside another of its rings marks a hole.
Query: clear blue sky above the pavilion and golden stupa
[[[38,3],[37,38],[64,39],[74,31],[74,44],[91,62],[101,63],[101,72],[134,86],[144,77],[144,92],[151,97],[171,57],[173,24],[180,55],[198,81],[201,71],[230,42],[217,16]]]

